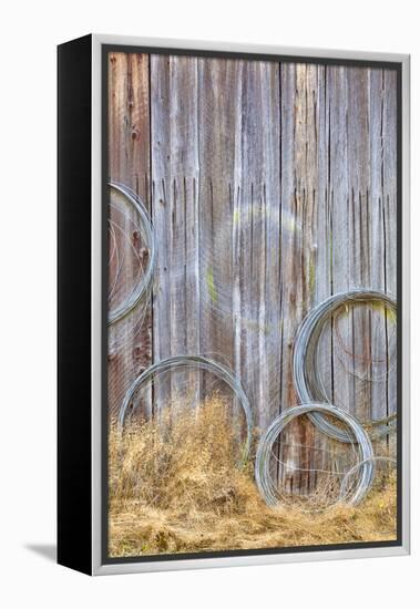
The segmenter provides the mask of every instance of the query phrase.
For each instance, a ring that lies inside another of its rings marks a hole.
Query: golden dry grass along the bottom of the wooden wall
[[[217,399],[110,434],[110,556],[375,541],[396,538],[396,485],[359,507],[273,510]]]

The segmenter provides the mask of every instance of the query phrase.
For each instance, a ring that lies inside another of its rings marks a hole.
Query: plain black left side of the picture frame
[[[92,575],[92,35],[58,47],[58,562]]]

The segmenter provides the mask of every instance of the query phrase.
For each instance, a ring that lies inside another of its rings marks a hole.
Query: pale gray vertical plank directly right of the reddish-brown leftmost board
[[[153,345],[160,361],[199,352],[197,59],[151,55],[151,81],[152,216],[160,248]],[[182,376],[155,386],[157,402],[181,392]],[[194,383],[193,374],[186,378]]]

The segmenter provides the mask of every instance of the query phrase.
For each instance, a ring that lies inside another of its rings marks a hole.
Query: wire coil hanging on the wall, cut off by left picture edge
[[[148,248],[148,264],[139,282],[134,286],[131,293],[117,307],[109,311],[107,324],[111,326],[129,316],[139,304],[144,296],[150,291],[153,276],[156,268],[157,248],[154,229],[147,209],[139,198],[139,196],[127,186],[116,182],[109,182],[109,187],[123,195],[127,203],[139,214],[142,237]]]

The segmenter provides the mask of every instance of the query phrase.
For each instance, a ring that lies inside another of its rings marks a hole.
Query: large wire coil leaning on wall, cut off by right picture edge
[[[329,402],[321,389],[322,383],[316,365],[318,340],[324,324],[330,316],[339,307],[355,302],[380,302],[397,313],[397,303],[393,298],[381,291],[366,289],[336,293],[309,311],[296,334],[293,354],[294,384],[301,403]],[[330,423],[322,413],[311,412],[308,416],[318,430],[329,437],[339,442],[352,442],[352,436],[346,430]],[[380,421],[369,421],[366,425],[376,427],[373,435],[382,437],[395,430],[395,425],[390,425],[390,423],[393,423],[396,419],[397,414],[392,413]]]

